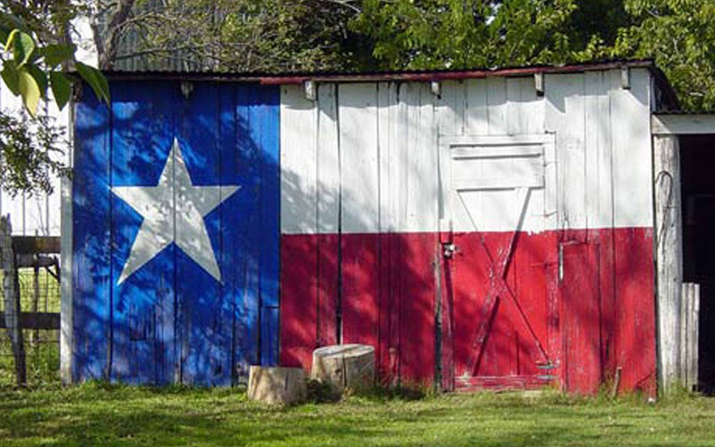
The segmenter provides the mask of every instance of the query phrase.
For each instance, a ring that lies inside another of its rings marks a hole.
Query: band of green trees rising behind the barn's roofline
[[[239,72],[652,58],[684,107],[715,109],[715,1],[85,1],[124,18],[107,20],[124,53],[105,51],[104,67],[137,55]]]

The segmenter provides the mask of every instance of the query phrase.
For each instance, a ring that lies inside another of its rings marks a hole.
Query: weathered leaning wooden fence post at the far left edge
[[[3,270],[3,296],[5,300],[5,325],[10,334],[12,353],[15,356],[15,373],[18,385],[27,383],[25,346],[20,327],[20,294],[17,288],[15,255],[12,251],[10,216],[0,216],[0,261]]]

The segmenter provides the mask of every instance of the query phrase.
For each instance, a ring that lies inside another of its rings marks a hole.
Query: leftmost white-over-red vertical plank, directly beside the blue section
[[[318,101],[324,102],[319,89]],[[327,105],[329,99],[325,99]],[[300,86],[282,86],[280,99],[280,220],[281,220],[281,363],[286,366],[310,364],[317,337],[317,277],[326,272],[322,262],[330,262],[330,248],[311,237],[317,232],[317,197],[315,175],[317,158],[317,116],[315,104],[305,99]],[[335,114],[337,119],[337,113]],[[240,137],[239,137],[240,138]],[[337,144],[337,139],[335,144]],[[326,149],[327,151],[328,149]],[[337,154],[335,154],[337,157]],[[320,170],[321,177],[335,175],[330,167]],[[325,180],[325,202],[334,193],[330,177]],[[335,199],[337,202],[337,198]],[[336,205],[337,207],[337,205]],[[326,210],[326,214],[327,214]],[[330,225],[330,220],[325,220]],[[337,225],[337,222],[336,224]],[[325,251],[318,251],[325,246]],[[320,262],[320,263],[319,263]],[[337,271],[337,253],[332,258]],[[285,268],[286,265],[292,268]],[[332,297],[337,299],[337,290]]]

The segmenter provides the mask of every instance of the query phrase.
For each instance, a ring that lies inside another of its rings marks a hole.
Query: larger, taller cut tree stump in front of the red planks
[[[370,345],[332,345],[313,351],[310,378],[336,390],[367,390],[375,383],[375,348]]]

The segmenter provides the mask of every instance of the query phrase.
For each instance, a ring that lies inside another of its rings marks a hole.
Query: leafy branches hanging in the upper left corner
[[[0,3],[0,77],[24,104],[21,111],[0,111],[0,183],[12,195],[51,191],[50,178],[62,166],[54,153],[65,146],[64,130],[54,125],[40,104],[54,101],[62,109],[69,102],[72,81],[66,70],[70,66],[109,103],[104,76],[74,60],[69,21],[78,12],[79,6],[71,0]]]

